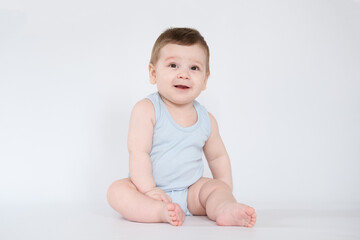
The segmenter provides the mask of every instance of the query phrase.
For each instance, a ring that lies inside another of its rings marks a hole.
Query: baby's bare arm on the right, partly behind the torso
[[[233,189],[230,158],[219,133],[216,119],[209,113],[211,133],[204,146],[204,154],[214,179],[219,179]]]

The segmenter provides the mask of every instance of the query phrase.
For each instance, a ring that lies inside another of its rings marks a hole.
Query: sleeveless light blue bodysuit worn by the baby
[[[164,190],[190,215],[187,191],[203,175],[203,147],[211,132],[209,114],[194,101],[198,120],[190,127],[182,127],[172,119],[158,92],[147,98],[155,109],[150,159],[156,187]]]

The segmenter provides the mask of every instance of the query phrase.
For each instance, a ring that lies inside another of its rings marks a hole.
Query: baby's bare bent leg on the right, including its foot
[[[206,215],[218,225],[252,227],[255,210],[238,203],[222,181],[202,178],[189,188],[188,208],[194,215]]]

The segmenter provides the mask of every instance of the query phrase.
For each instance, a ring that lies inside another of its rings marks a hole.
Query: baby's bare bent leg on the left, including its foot
[[[128,178],[111,184],[107,197],[110,206],[130,221],[168,222],[180,226],[185,220],[185,213],[178,204],[145,196]]]

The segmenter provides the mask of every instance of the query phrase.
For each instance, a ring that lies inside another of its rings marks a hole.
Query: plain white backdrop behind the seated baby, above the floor
[[[0,1],[0,204],[105,206],[168,27],[197,28],[198,99],[255,208],[360,208],[360,2]],[[207,173],[208,174],[208,173]]]

